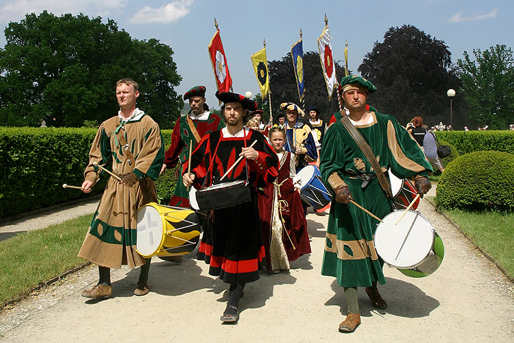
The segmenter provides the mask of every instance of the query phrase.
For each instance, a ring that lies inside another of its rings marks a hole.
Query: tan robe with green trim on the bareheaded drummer
[[[115,174],[133,171],[140,178],[136,185],[127,187],[110,177],[103,191],[78,256],[104,267],[120,268],[126,264],[134,268],[145,264],[145,259],[136,251],[136,212],[145,203],[140,182],[145,182],[156,198],[155,180],[164,161],[164,146],[158,124],[143,111],[139,113],[119,131],[125,135],[136,161],[129,161],[117,134],[113,134],[119,126],[119,118],[112,117],[101,123],[84,171],[86,180],[96,182],[98,176],[93,163],[98,162],[108,169],[112,165]]]

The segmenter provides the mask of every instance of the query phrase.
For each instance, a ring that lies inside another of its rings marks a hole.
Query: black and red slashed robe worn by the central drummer
[[[252,187],[252,201],[216,210],[208,222],[201,240],[198,259],[209,265],[209,274],[219,276],[225,283],[248,283],[259,279],[258,270],[265,257],[260,233],[256,187],[265,187],[277,175],[278,158],[265,137],[257,131],[243,129],[241,137],[223,137],[219,130],[206,135],[191,156],[191,172],[197,176],[193,187],[201,189],[217,185],[225,171],[239,157],[242,147],[254,141],[259,156],[256,161],[243,159],[222,182],[248,180]],[[216,155],[212,161],[212,155]],[[245,163],[246,162],[246,163]],[[209,169],[211,169],[209,171]]]

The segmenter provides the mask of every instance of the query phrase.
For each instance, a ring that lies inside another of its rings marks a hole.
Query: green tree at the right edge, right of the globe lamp
[[[511,48],[495,45],[473,49],[475,60],[464,51],[457,60],[463,92],[469,104],[469,118],[492,129],[506,129],[513,123],[514,56]]]

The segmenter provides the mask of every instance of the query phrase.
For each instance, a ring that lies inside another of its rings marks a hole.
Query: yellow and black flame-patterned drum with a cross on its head
[[[138,209],[136,250],[143,257],[186,255],[195,250],[199,236],[195,211],[156,202]]]

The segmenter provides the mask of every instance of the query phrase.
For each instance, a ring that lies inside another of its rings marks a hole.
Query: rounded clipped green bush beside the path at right
[[[445,168],[435,202],[446,209],[514,210],[514,154],[471,152]]]

